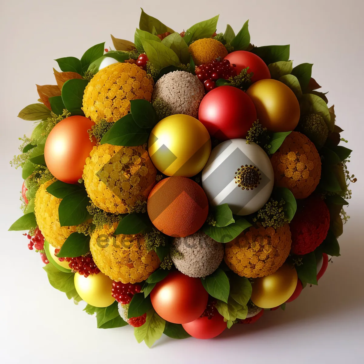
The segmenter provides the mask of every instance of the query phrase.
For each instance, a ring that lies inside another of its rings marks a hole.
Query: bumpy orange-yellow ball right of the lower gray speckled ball
[[[225,244],[227,266],[242,277],[257,278],[276,272],[291,249],[289,224],[274,229],[250,227]]]

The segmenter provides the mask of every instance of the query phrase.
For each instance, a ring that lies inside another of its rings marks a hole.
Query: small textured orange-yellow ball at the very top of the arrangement
[[[188,47],[196,66],[211,63],[214,59],[227,56],[225,46],[216,39],[202,38],[194,41]]]

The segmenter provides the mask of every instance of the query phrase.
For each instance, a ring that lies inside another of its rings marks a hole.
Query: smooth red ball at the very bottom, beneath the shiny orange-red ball
[[[199,317],[187,324],[182,324],[183,328],[196,339],[212,339],[220,335],[226,329],[226,322],[221,314],[215,314],[212,318]]]

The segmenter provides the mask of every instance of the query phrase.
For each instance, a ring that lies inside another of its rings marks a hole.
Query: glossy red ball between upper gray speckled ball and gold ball
[[[233,86],[220,86],[202,99],[198,119],[210,135],[220,141],[240,139],[246,137],[257,120],[257,111],[244,91]]]

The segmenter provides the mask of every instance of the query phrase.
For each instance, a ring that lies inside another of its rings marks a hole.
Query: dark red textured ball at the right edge
[[[311,195],[298,202],[297,211],[289,224],[293,254],[313,252],[326,238],[330,227],[330,212],[320,196]]]

